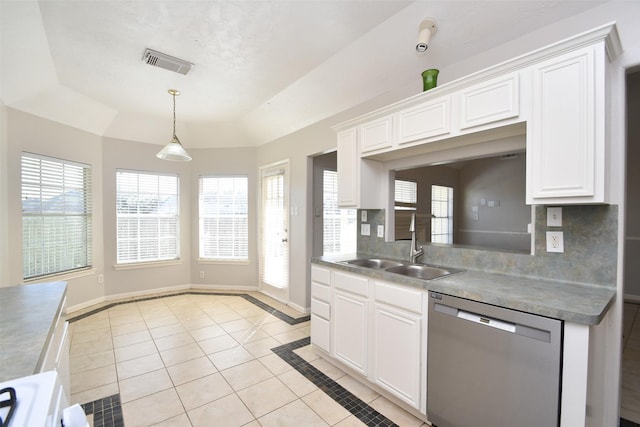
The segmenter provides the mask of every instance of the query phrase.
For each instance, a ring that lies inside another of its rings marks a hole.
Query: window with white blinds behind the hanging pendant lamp
[[[117,262],[179,258],[178,176],[116,172]]]

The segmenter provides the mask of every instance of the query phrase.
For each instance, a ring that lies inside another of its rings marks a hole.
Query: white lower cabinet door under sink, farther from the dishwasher
[[[334,355],[363,375],[367,374],[367,306],[364,297],[334,292],[331,313]]]

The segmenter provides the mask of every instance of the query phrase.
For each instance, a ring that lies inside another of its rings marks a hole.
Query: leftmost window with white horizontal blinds
[[[89,268],[91,168],[22,155],[24,279]]]

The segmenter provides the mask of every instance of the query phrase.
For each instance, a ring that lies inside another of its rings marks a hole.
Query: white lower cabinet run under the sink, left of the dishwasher
[[[312,278],[319,277],[317,268]],[[426,414],[425,291],[328,270],[328,288],[312,281],[311,343]]]

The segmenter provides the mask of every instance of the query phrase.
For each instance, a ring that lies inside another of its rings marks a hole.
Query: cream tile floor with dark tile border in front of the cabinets
[[[258,293],[163,296],[70,321],[71,400],[93,427],[428,425],[319,358],[308,317]]]

